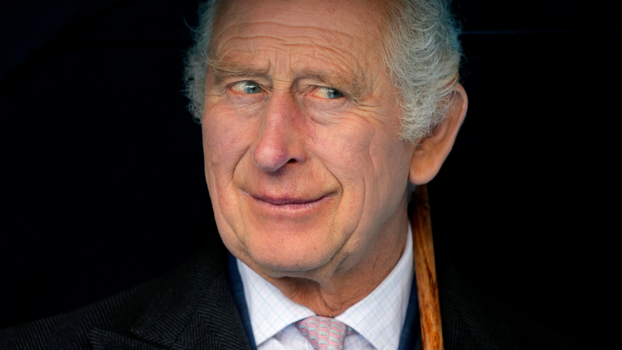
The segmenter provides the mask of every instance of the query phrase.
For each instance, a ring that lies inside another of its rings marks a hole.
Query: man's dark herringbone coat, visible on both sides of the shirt
[[[475,293],[437,252],[445,348],[577,349]],[[238,298],[239,300],[239,298]],[[421,349],[419,324],[412,326]],[[211,242],[177,272],[80,310],[0,331],[0,349],[250,350],[233,298],[227,252]]]

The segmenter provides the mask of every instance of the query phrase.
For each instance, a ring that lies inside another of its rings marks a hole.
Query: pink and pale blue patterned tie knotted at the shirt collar
[[[346,334],[355,333],[354,329],[332,317],[311,316],[295,325],[317,350],[343,350]]]

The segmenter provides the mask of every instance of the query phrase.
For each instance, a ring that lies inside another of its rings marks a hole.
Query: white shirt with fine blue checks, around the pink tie
[[[412,230],[406,249],[391,273],[368,296],[335,317],[356,332],[345,338],[345,350],[397,350],[411,294],[413,270]],[[238,260],[239,275],[258,350],[313,350],[294,326],[314,316]]]

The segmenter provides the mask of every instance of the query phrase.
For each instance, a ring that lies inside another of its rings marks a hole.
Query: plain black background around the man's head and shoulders
[[[0,328],[169,273],[217,234],[182,92],[196,5],[1,5]],[[607,346],[620,7],[453,7],[470,106],[429,186],[437,249],[488,297]]]

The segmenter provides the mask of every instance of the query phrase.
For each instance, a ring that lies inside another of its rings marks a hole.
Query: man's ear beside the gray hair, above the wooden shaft
[[[440,166],[452,150],[458,130],[466,116],[468,99],[465,89],[458,84],[450,101],[450,108],[445,120],[436,127],[434,135],[420,140],[411,158],[408,179],[412,184],[425,184],[439,173]]]

